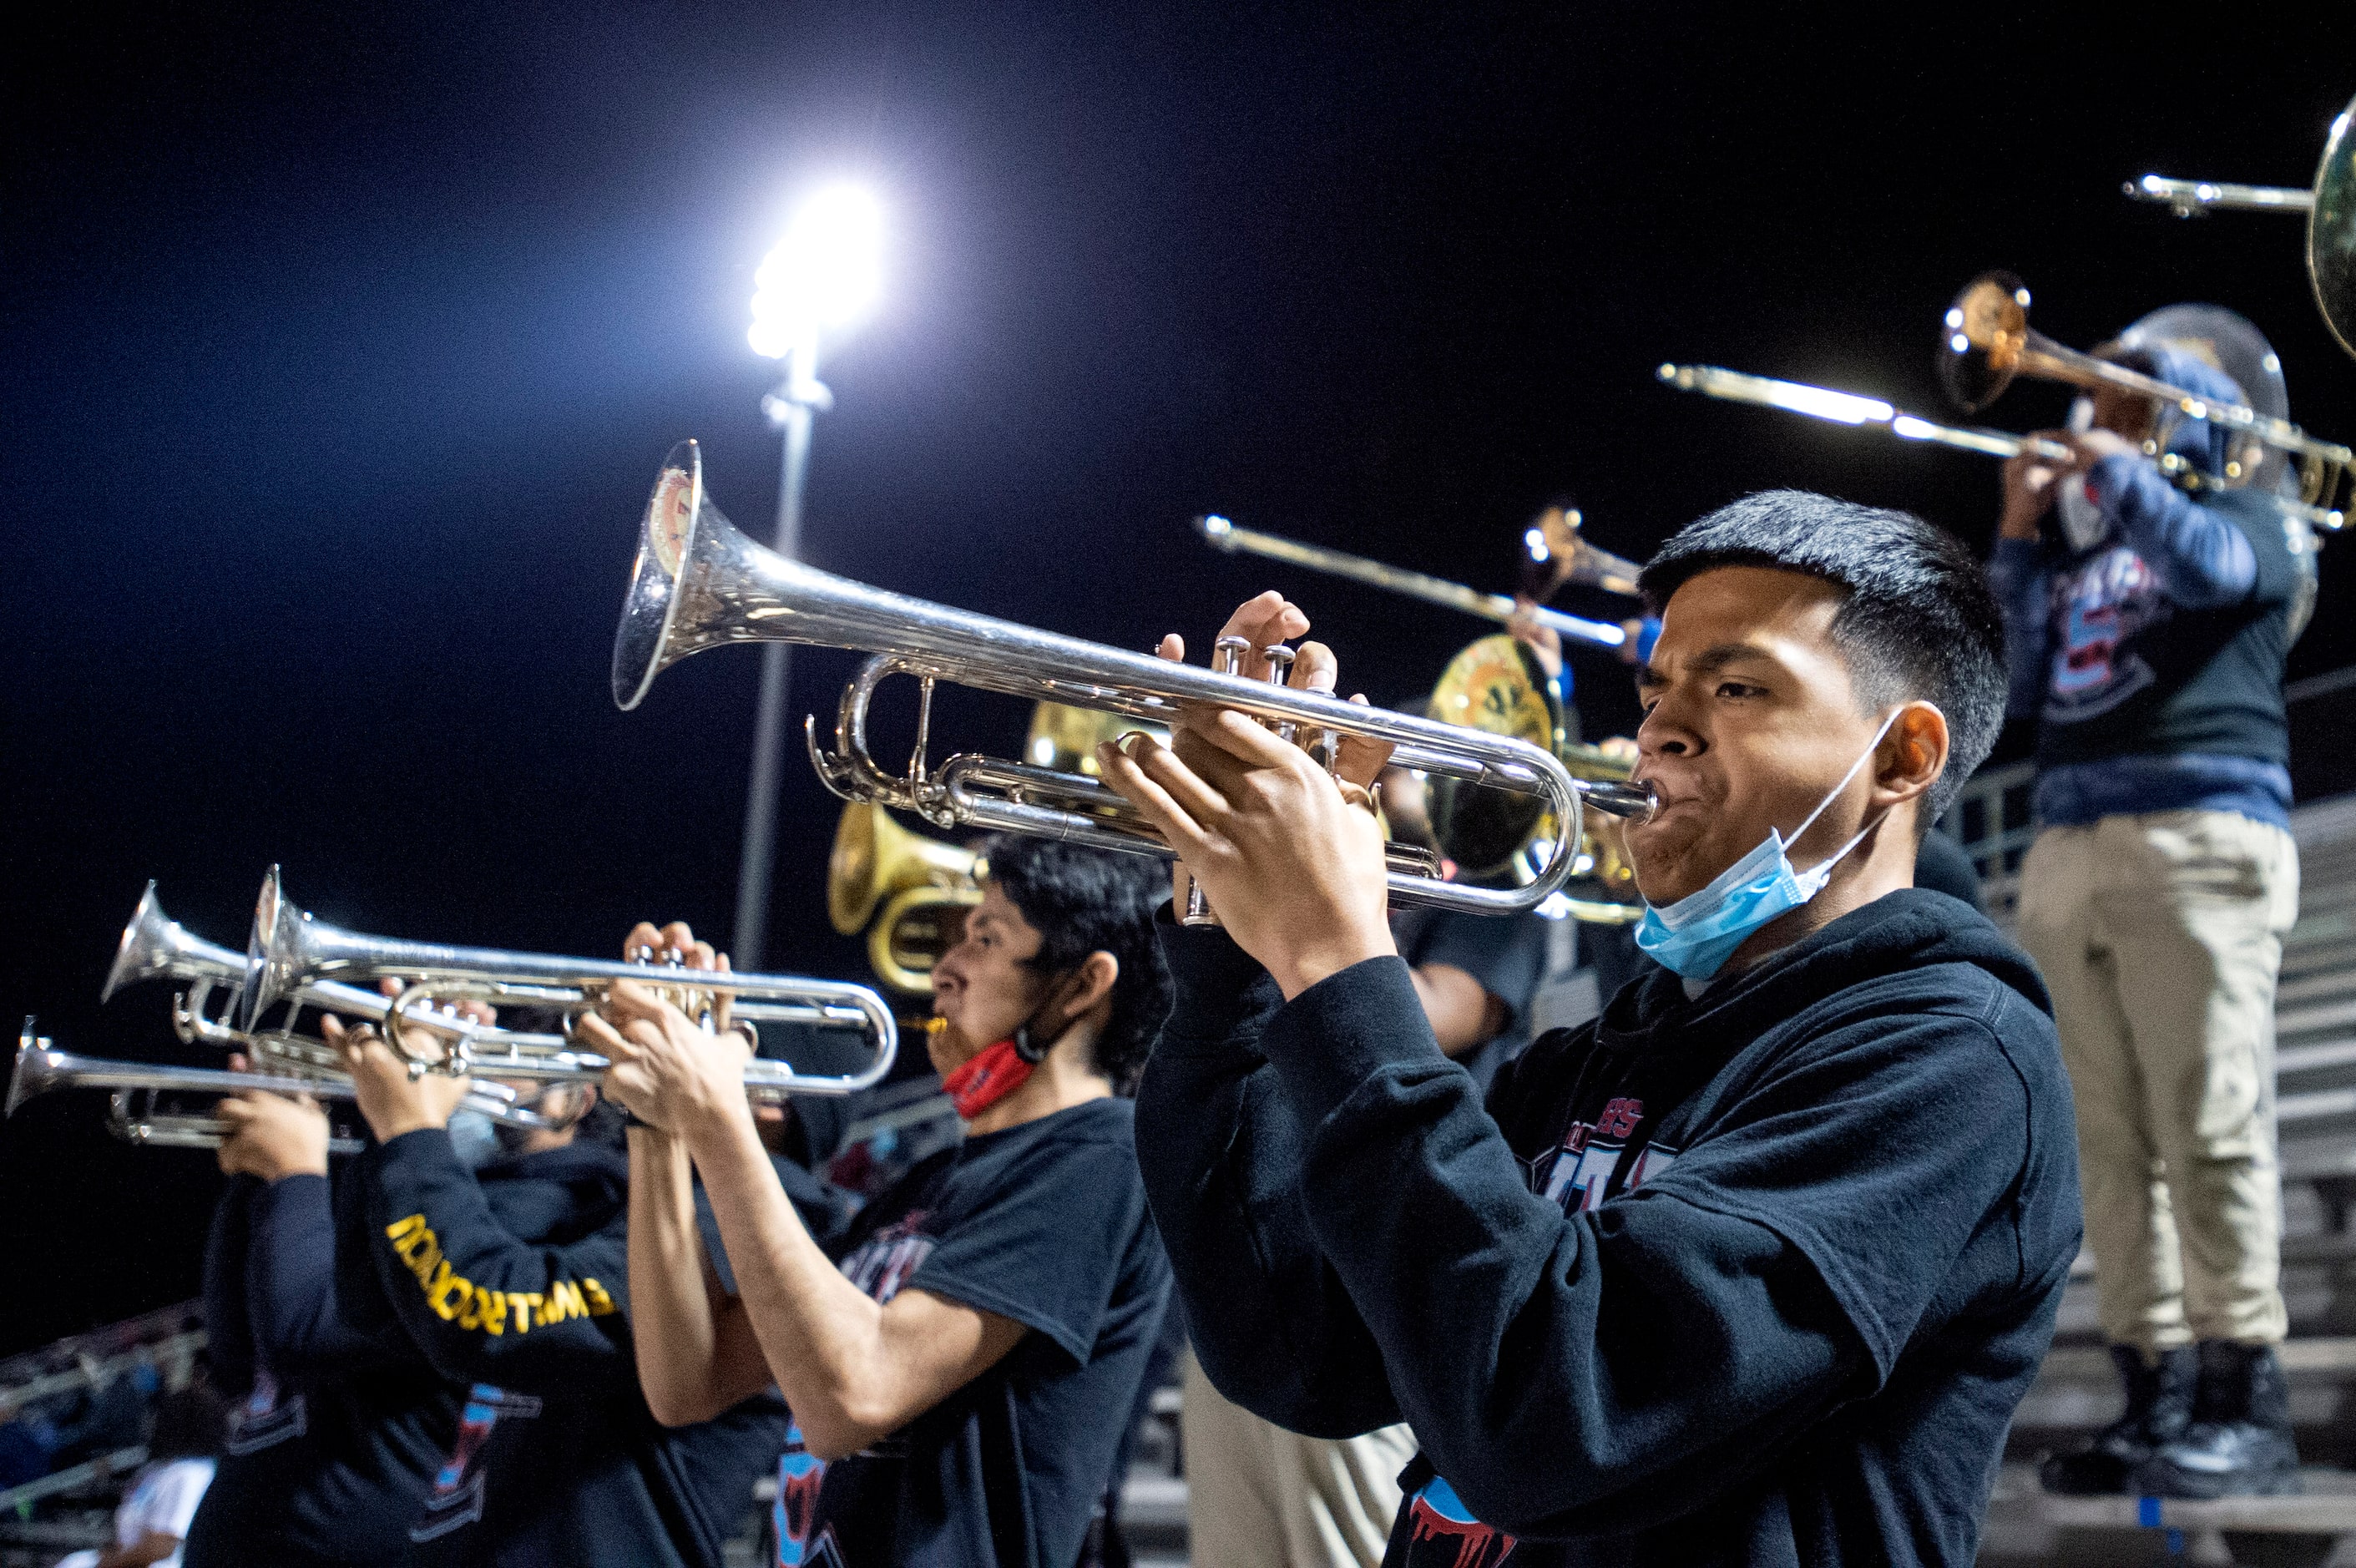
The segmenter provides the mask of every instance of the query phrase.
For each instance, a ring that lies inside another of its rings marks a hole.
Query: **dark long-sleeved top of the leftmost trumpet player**
[[[368,1269],[360,1191],[231,1177],[205,1252],[207,1344],[236,1396],[186,1568],[384,1563],[450,1452],[464,1389],[434,1372]],[[353,1240],[337,1245],[339,1236]]]

